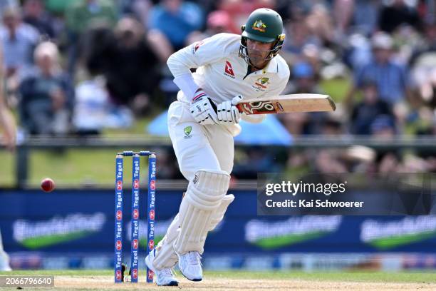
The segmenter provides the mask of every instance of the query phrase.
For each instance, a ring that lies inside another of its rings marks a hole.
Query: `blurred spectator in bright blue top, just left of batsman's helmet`
[[[171,51],[186,46],[187,36],[202,28],[204,15],[197,4],[183,0],[162,0],[150,11],[148,29],[155,29],[167,39]]]

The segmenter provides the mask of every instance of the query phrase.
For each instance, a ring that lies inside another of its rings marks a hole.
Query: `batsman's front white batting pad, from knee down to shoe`
[[[203,253],[213,213],[219,208],[229,183],[230,175],[222,170],[199,170],[195,173],[180,204],[180,233],[174,242],[177,254]]]

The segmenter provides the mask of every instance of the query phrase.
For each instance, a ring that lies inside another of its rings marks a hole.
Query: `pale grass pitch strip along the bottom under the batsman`
[[[180,272],[179,287],[157,287],[145,282],[115,284],[113,270],[35,270],[0,275],[54,275],[55,287],[25,290],[436,290],[435,272],[204,272],[202,282],[190,282]],[[17,287],[0,287],[17,290]]]

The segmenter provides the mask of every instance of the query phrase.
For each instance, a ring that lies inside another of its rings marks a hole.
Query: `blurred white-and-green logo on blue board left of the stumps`
[[[13,225],[14,239],[24,247],[38,249],[97,233],[103,229],[105,220],[103,213],[74,213],[46,221],[16,220]]]

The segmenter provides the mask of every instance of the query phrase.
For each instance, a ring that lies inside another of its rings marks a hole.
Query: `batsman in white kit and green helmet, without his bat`
[[[242,26],[242,36],[216,34],[168,58],[180,88],[168,110],[168,129],[180,171],[190,182],[165,238],[145,258],[157,285],[178,285],[172,273],[177,262],[188,280],[202,280],[207,233],[234,200],[226,193],[239,121],[260,123],[265,117],[239,113],[236,105],[244,98],[278,96],[284,90],[289,68],[278,54],[283,42],[279,14],[257,9]],[[191,73],[191,68],[197,71]]]

